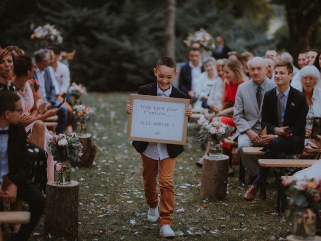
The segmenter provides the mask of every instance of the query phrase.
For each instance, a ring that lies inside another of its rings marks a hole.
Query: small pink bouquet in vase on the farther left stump
[[[87,122],[95,114],[95,109],[83,104],[74,105],[72,116],[77,122],[76,133],[80,136],[87,133]]]

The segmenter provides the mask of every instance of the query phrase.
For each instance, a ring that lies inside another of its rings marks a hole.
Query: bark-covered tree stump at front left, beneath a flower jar
[[[74,241],[78,238],[78,195],[79,182],[68,185],[47,182],[45,208],[45,234],[53,240],[65,238]]]

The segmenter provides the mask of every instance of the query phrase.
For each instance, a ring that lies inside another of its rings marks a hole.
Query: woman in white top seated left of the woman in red
[[[206,57],[203,60],[205,72],[201,73],[196,82],[195,97],[197,98],[194,108],[208,108],[208,98],[215,82],[215,59],[213,57]]]

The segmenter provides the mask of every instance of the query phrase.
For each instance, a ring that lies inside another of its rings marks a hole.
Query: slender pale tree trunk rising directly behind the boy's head
[[[165,23],[165,56],[175,60],[176,0],[167,0]]]

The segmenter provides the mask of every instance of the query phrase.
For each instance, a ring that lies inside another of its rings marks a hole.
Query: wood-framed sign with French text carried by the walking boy
[[[130,94],[127,139],[165,144],[186,144],[190,100]]]

